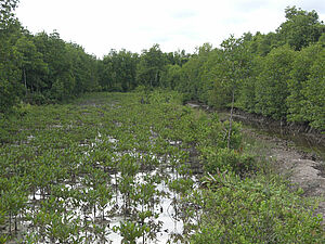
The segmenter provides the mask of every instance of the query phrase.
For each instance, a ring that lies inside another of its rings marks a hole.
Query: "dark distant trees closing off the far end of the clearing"
[[[164,53],[158,44],[141,54],[110,50],[99,61],[99,85],[104,91],[131,91],[138,86],[170,87],[166,74],[170,66],[182,66],[191,57],[184,50]]]

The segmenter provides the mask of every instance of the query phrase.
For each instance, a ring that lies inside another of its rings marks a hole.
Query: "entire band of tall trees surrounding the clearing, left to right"
[[[274,119],[325,129],[325,25],[315,11],[285,10],[269,34],[205,43],[194,54],[112,50],[102,60],[56,33],[31,35],[3,1],[0,27],[0,113],[21,101],[49,103],[88,91],[169,88],[211,106],[238,107]]]

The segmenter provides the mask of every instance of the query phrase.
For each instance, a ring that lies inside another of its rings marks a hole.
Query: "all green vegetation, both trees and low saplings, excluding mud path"
[[[252,153],[238,124],[182,105],[324,131],[315,11],[287,8],[275,33],[194,54],[155,44],[99,60],[57,33],[30,34],[17,2],[0,2],[0,243],[324,242],[322,218]],[[181,232],[164,229],[166,211]]]

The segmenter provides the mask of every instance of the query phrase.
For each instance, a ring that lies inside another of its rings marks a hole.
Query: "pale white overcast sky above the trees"
[[[34,34],[57,30],[102,57],[110,49],[140,53],[154,43],[165,52],[193,52],[231,34],[274,31],[288,5],[315,10],[325,21],[324,0],[21,0],[16,15]]]

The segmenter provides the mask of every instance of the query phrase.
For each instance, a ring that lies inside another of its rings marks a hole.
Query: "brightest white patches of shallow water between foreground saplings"
[[[157,171],[151,171],[151,175],[155,175],[155,174],[159,174]],[[135,181],[136,183],[141,183],[144,182],[143,178],[146,176],[145,172],[140,172],[135,176]],[[169,178],[174,179],[177,176],[172,172],[168,172]],[[121,177],[120,174],[117,175],[112,175],[112,183],[114,184],[116,181],[118,181],[118,179]],[[195,178],[193,177],[193,180],[195,180]],[[78,181],[82,181],[82,179],[80,178]],[[77,184],[65,184],[65,187],[67,189],[76,189],[76,185],[81,187],[80,183]],[[156,223],[161,222],[161,227],[159,228],[159,231],[156,232],[156,240],[146,240],[145,243],[168,243],[168,241],[170,240],[170,237],[173,234],[179,234],[181,235],[183,232],[183,221],[180,218],[176,218],[176,209],[173,206],[173,201],[174,198],[179,198],[180,196],[177,193],[173,193],[169,190],[168,185],[166,184],[165,181],[161,181],[161,183],[158,183],[156,185],[156,190],[159,192],[164,192],[166,194],[164,194],[164,196],[159,196],[159,203],[155,206],[155,213],[159,214],[157,219],[154,219],[154,221]],[[34,195],[29,195],[29,204],[30,206],[32,206],[34,209],[38,209],[38,204],[41,201],[41,194],[40,191],[36,192],[36,198],[34,198]],[[122,195],[120,192],[118,192],[118,195],[116,197],[116,195],[113,195],[113,200],[117,198],[117,205],[118,205],[118,209],[121,210],[122,208]],[[70,205],[70,204],[67,204]],[[81,204],[82,205],[82,204]],[[114,206],[108,205],[104,213],[109,213],[112,211],[112,208]],[[116,207],[116,206],[115,206]],[[135,207],[138,210],[141,209],[141,206]],[[99,209],[99,208],[98,208]],[[84,210],[82,209],[82,207],[79,208],[74,208],[74,209],[69,209],[74,211],[75,217],[80,217],[80,219],[90,219],[90,220],[94,220],[94,216],[92,211],[88,211],[84,213]],[[30,210],[29,213],[31,213],[32,210]],[[99,219],[99,215],[96,216],[95,219]],[[115,233],[113,231],[114,227],[119,227],[120,222],[125,221],[126,219],[128,219],[128,217],[126,218],[125,216],[120,214],[113,216],[113,217],[107,217],[105,216],[105,222],[101,222],[101,220],[99,220],[99,224],[106,224],[105,230],[107,231],[108,234],[105,235],[107,242],[106,243],[121,243],[122,236],[119,233]],[[151,219],[153,220],[153,219]],[[98,221],[98,220],[96,220]],[[31,224],[30,221],[24,221],[23,223],[23,229],[27,229],[29,226]],[[88,233],[88,236],[91,236],[91,233]],[[49,243],[47,240],[44,241],[40,241],[38,242],[40,244],[43,243]],[[96,240],[92,243],[102,243],[101,240]],[[142,239],[138,241],[138,243],[142,243]]]

